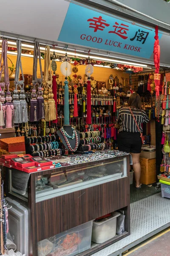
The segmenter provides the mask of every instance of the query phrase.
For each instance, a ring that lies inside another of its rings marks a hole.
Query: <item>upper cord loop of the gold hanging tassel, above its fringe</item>
[[[48,73],[50,70],[50,76]],[[50,60],[50,47],[45,47],[45,55],[44,55],[44,81],[43,86],[45,91],[52,88],[52,76],[51,76],[51,60]]]

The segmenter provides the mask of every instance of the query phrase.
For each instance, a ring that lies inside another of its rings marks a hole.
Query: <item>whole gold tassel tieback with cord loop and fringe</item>
[[[50,70],[50,74],[48,73]],[[45,105],[45,120],[51,121],[57,118],[56,105],[54,101],[54,94],[52,90],[52,76],[51,76],[51,64],[50,64],[50,47],[45,47],[44,55],[44,105]]]

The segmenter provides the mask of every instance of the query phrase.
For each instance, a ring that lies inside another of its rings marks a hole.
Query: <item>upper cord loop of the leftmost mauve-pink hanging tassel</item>
[[[3,43],[2,43],[2,54],[1,54],[1,58],[0,58],[0,66],[1,66],[2,60],[3,60],[3,65],[2,65],[2,68],[1,68],[1,71],[0,71],[0,80],[1,80],[2,73],[4,71],[4,82],[0,83],[0,88],[3,91],[5,89],[5,86],[7,87],[7,91],[9,91],[9,75],[8,75],[7,51],[8,51],[8,42],[7,42],[7,40],[3,40]]]

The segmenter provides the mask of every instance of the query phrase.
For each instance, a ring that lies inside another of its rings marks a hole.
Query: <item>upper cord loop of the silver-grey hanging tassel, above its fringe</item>
[[[21,63],[21,41],[17,40],[17,63],[15,69],[15,90],[17,90],[17,86],[20,87],[21,90],[24,90],[24,75],[23,75],[23,67]],[[19,81],[20,69],[22,74],[22,80]]]

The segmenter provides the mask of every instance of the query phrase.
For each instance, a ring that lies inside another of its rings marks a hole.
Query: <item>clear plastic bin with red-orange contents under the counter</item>
[[[91,248],[93,221],[38,242],[38,256],[75,256]]]

